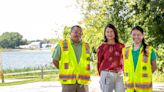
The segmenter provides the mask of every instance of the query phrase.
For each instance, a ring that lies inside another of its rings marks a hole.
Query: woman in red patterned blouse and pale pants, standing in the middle
[[[104,42],[98,47],[98,72],[102,92],[124,92],[122,48],[117,30],[108,24],[104,30]]]

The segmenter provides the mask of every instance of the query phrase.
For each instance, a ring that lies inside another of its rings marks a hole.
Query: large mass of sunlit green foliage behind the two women
[[[164,66],[164,0],[78,0],[84,18],[84,40],[98,47],[103,41],[107,23],[116,26],[119,40],[132,44],[130,31],[139,25],[145,31],[145,40],[158,52],[158,69]]]

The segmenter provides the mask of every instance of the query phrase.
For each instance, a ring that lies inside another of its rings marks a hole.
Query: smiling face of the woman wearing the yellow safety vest
[[[134,43],[139,44],[142,42],[143,34],[139,30],[133,30],[131,35]]]

